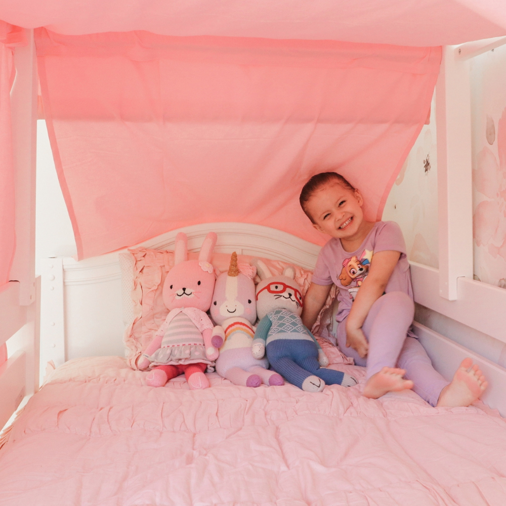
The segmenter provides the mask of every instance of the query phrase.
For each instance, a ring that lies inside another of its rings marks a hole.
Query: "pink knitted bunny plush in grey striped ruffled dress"
[[[209,263],[216,234],[207,234],[198,260],[187,260],[187,237],[176,236],[174,267],[163,284],[163,302],[170,310],[153,340],[139,358],[139,369],[150,368],[147,384],[161,387],[184,373],[191,390],[207,388],[206,367],[217,359],[222,329],[206,315],[216,276]]]

